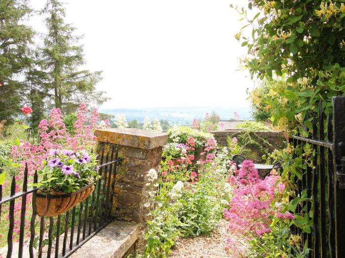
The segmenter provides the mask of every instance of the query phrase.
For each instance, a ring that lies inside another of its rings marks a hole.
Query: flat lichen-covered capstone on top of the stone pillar
[[[95,130],[98,142],[114,143],[140,149],[153,149],[168,141],[165,133],[153,133],[135,128],[112,128]]]

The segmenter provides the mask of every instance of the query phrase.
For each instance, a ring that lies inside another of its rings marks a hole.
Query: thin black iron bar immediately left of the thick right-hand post
[[[327,120],[327,140],[333,141],[332,116],[328,114]],[[333,152],[327,149],[327,169],[328,169],[328,214],[329,214],[329,250],[331,258],[336,258],[335,251],[335,214],[334,214],[334,170],[333,170]]]

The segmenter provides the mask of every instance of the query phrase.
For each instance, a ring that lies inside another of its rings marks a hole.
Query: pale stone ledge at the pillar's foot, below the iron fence
[[[113,221],[73,254],[73,258],[122,258],[138,239],[138,224]]]

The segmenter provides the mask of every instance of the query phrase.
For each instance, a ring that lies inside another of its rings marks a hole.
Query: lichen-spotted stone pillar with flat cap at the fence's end
[[[117,219],[134,221],[144,229],[147,209],[147,172],[159,171],[162,147],[168,136],[146,130],[123,128],[96,130],[98,142],[113,143],[123,158],[117,169],[112,213]]]

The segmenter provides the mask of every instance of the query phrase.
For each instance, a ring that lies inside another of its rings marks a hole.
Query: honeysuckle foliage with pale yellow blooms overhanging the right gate
[[[251,36],[236,36],[248,48],[243,66],[252,77],[273,80],[272,100],[261,98],[264,91],[254,92],[254,105],[263,103],[281,127],[294,126],[296,116],[304,119],[320,99],[332,113],[332,96],[345,92],[344,3],[250,0],[248,8],[253,7],[259,9],[253,18],[238,9],[253,27]]]

